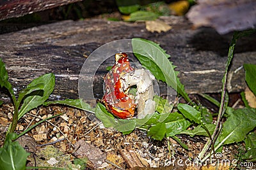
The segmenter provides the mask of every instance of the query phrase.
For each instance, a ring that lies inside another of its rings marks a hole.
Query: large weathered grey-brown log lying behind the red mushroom
[[[10,81],[20,90],[44,73],[56,76],[56,96],[77,98],[77,81],[86,57],[110,41],[140,37],[159,43],[171,55],[170,60],[180,71],[180,81],[188,93],[220,92],[225,71],[228,45],[232,34],[220,35],[214,29],[192,29],[184,17],[162,17],[173,29],[151,33],[144,23],[111,22],[94,18],[66,20],[41,25],[0,36],[0,57],[6,63]],[[240,92],[246,86],[244,63],[256,64],[256,37],[237,41],[228,91]],[[104,53],[102,53],[104,55]],[[114,60],[114,59],[113,59]],[[102,77],[107,62],[95,77],[95,95],[102,92]],[[1,94],[3,99],[3,92]],[[97,97],[97,96],[96,96]]]

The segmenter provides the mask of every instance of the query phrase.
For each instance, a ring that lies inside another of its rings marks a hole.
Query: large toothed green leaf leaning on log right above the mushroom
[[[140,63],[151,71],[157,80],[175,89],[186,101],[191,101],[185,92],[184,85],[177,77],[178,71],[174,71],[176,66],[168,60],[168,55],[158,44],[147,39],[133,38],[132,51]]]

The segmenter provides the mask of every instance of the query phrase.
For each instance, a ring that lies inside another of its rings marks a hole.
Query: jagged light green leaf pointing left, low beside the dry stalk
[[[205,127],[208,129],[210,134],[212,134],[216,125],[214,125],[214,124],[205,124]],[[195,135],[207,136],[208,137],[207,132],[205,131],[205,129],[201,125],[196,126],[195,129],[193,129],[193,130],[182,131],[182,132],[180,132],[180,134],[188,134],[191,137],[194,137]]]

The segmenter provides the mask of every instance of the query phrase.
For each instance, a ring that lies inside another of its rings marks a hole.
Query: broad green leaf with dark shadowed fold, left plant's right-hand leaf
[[[52,93],[55,85],[55,76],[52,73],[44,74],[33,80],[29,85],[28,88],[35,87],[38,84],[44,84],[44,87],[41,90],[36,91],[36,93],[30,93],[24,99],[22,107],[19,111],[19,118],[20,119],[25,113],[28,111],[44,104],[44,102],[49,98],[50,94]],[[42,93],[42,90],[44,91]]]

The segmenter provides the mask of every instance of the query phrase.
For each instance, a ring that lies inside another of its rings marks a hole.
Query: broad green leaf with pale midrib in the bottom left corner
[[[29,153],[15,139],[16,134],[6,136],[3,148],[0,148],[0,169],[24,170]]]

